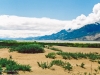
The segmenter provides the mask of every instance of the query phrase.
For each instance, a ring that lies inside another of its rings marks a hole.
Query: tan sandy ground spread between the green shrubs
[[[75,48],[75,47],[61,47],[61,46],[54,46],[56,48],[61,49],[64,52],[97,52],[100,53],[99,48]],[[84,75],[85,72],[87,73],[95,73],[94,69],[97,69],[100,64],[97,62],[91,62],[88,59],[71,59],[71,60],[64,60],[61,56],[57,56],[56,59],[63,60],[66,62],[70,62],[73,66],[73,71],[65,71],[63,68],[59,66],[53,66],[51,69],[42,69],[38,66],[37,62],[51,62],[50,58],[46,58],[45,55],[54,52],[53,50],[46,49],[45,53],[37,53],[37,54],[22,54],[17,52],[9,52],[9,49],[0,49],[0,57],[1,58],[8,58],[11,55],[13,60],[17,61],[20,64],[29,64],[31,66],[32,72],[19,72],[20,75]],[[85,63],[86,69],[83,69],[76,64],[80,65],[81,63]],[[92,66],[91,66],[92,65]],[[92,70],[91,70],[92,68]],[[54,69],[54,70],[52,70]],[[94,75],[94,74],[93,74]],[[96,75],[100,75],[100,71],[96,73]]]

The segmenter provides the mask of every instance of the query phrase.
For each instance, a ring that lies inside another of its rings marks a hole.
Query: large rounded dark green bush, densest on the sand
[[[28,45],[22,45],[18,46],[16,50],[19,53],[43,53],[44,49],[39,44],[28,44]]]

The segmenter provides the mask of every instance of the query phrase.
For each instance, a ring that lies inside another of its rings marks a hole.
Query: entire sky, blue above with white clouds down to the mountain
[[[35,37],[100,22],[100,0],[0,0],[0,37]]]

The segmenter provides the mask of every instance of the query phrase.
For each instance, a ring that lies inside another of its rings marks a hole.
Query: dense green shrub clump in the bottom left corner
[[[7,74],[16,74],[18,71],[31,71],[29,65],[20,65],[13,60],[8,60],[7,58],[0,58],[0,73],[3,72],[2,67],[5,67],[4,72]]]

